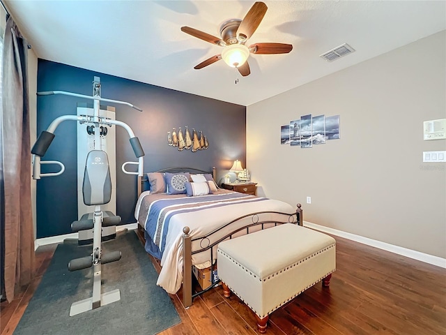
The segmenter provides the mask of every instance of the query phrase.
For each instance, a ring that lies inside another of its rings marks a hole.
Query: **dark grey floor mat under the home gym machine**
[[[101,292],[119,289],[121,300],[70,316],[73,302],[92,295],[93,267],[70,272],[68,262],[90,255],[92,246],[59,244],[14,334],[157,334],[179,323],[137,234],[129,231],[102,243],[102,253],[115,250],[122,258],[102,265]]]

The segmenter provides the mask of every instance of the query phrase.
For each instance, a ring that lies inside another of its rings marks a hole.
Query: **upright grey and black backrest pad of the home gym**
[[[86,156],[84,184],[82,185],[84,204],[107,204],[112,198],[112,179],[109,158],[102,150],[91,150]]]

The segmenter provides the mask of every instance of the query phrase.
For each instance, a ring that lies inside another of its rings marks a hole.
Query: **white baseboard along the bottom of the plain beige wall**
[[[345,239],[350,239],[351,241],[366,244],[367,246],[374,246],[375,248],[378,249],[390,251],[391,253],[397,253],[398,255],[406,256],[414,260],[420,260],[422,262],[429,263],[431,265],[436,265],[437,267],[443,267],[446,269],[446,258],[429,255],[428,253],[420,253],[420,251],[403,248],[401,246],[395,246],[393,244],[377,241],[376,239],[369,239],[368,237],[362,237],[360,235],[351,234],[350,232],[343,232],[341,230],[328,228],[323,225],[317,225],[316,223],[311,223],[308,221],[304,221],[304,226],[312,228],[314,230],[319,230],[321,232],[326,232],[328,234],[333,234],[335,236],[344,237]]]

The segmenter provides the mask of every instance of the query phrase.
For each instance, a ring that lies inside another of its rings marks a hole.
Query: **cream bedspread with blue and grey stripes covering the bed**
[[[213,243],[236,228],[249,224],[252,220],[249,214],[261,211],[270,211],[270,214],[262,215],[271,219],[277,217],[278,213],[286,213],[286,216],[295,213],[295,209],[286,202],[222,189],[212,195],[199,197],[142,193],[134,217],[145,229],[146,251],[161,260],[162,269],[157,285],[171,294],[176,293],[181,286],[185,226],[190,228],[192,239],[218,230],[219,234],[210,237],[209,243]],[[242,216],[245,218],[226,226],[226,223]],[[197,239],[197,243],[200,243],[200,239]],[[196,247],[192,242],[192,250],[198,250],[200,246]],[[195,253],[192,255],[192,264],[209,267],[209,256],[208,252]]]

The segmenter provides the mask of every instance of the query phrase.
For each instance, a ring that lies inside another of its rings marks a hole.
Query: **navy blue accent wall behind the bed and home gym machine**
[[[125,66],[125,64],[123,64]],[[39,59],[38,91],[69,91],[93,95],[93,77],[100,77],[101,97],[126,101],[140,108],[138,112],[126,105],[101,102],[116,107],[116,119],[128,124],[139,137],[145,151],[146,172],[169,167],[190,167],[211,170],[220,176],[231,168],[235,159],[245,166],[246,107],[225,103],[202,96],[164,89],[151,84],[105,75],[91,70]],[[194,83],[191,82],[191,85]],[[215,83],[218,89],[218,83]],[[235,88],[234,88],[235,89]],[[47,130],[49,124],[66,114],[76,114],[77,103],[91,102],[72,96],[52,95],[37,98],[37,132]],[[167,131],[173,127],[188,126],[203,131],[209,147],[192,153],[178,151],[167,145]],[[71,232],[72,221],[77,220],[77,135],[76,123],[64,121],[54,132],[56,137],[43,161],[61,161],[66,171],[57,177],[44,177],[37,182],[37,237],[49,237]],[[121,165],[137,161],[129,142],[128,133],[116,129],[116,214],[122,223],[134,223],[134,205],[137,200],[137,178],[123,174]],[[43,165],[45,172],[47,166]],[[128,167],[130,169],[130,167]]]

